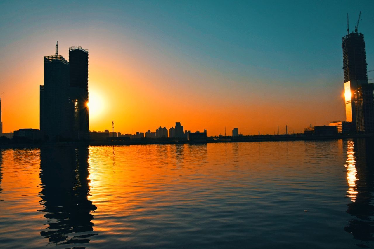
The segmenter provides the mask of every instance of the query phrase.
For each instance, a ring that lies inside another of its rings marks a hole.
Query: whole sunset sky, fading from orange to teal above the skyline
[[[374,1],[1,1],[3,132],[39,129],[43,57],[89,50],[89,129],[208,136],[345,120],[341,39]],[[374,71],[368,73],[374,78]],[[374,82],[374,80],[369,80]]]

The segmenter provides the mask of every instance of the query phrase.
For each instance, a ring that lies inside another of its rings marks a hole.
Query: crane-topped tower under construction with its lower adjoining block
[[[355,32],[347,28],[342,43],[346,121],[352,122],[353,131],[368,133],[374,131],[373,87],[368,84],[365,41],[358,24],[359,20]]]

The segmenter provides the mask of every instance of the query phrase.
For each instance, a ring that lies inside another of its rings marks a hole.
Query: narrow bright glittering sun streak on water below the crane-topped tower
[[[357,178],[357,170],[356,170],[356,157],[355,157],[355,151],[353,151],[353,147],[355,145],[355,142],[352,140],[347,141],[347,184],[348,184],[348,191],[347,191],[347,197],[350,197],[352,202],[356,201],[356,195],[358,194],[357,188],[356,188],[356,180]]]

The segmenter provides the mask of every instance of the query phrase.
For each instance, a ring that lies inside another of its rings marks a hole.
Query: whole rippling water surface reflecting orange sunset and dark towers
[[[1,248],[374,245],[373,140],[0,155]]]

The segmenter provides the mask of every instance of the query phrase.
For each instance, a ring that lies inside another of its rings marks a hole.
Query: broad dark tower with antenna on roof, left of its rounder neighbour
[[[44,57],[44,85],[40,86],[40,131],[55,141],[69,135],[69,63],[58,55]]]

